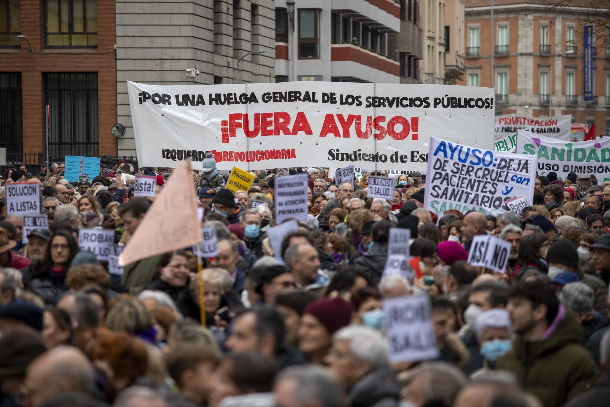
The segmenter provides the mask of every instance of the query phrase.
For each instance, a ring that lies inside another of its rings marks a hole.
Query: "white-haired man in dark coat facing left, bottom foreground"
[[[387,358],[387,341],[378,331],[350,325],[332,336],[326,362],[340,386],[348,391],[348,405],[397,403],[400,384]]]

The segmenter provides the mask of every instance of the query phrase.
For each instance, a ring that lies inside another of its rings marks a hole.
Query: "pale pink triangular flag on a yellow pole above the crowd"
[[[173,171],[118,257],[121,267],[202,242],[192,179],[190,162]]]

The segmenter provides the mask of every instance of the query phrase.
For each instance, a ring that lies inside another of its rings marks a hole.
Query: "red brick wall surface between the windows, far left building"
[[[23,152],[45,151],[46,72],[98,73],[99,154],[115,156],[116,139],[110,132],[117,120],[117,70],[115,0],[97,0],[98,48],[45,49],[45,1],[21,0],[21,34],[32,44],[21,41],[21,52],[0,49],[0,71],[21,72],[23,95]]]

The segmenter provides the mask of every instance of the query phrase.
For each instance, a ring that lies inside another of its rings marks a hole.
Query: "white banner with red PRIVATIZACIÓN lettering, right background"
[[[572,115],[539,118],[513,113],[496,116],[495,120],[496,141],[516,134],[519,129],[529,127],[531,127],[531,132],[553,137],[553,139],[569,141],[572,135]]]

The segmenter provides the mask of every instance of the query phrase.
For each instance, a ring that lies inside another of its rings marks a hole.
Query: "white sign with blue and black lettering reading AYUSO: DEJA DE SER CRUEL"
[[[536,156],[501,153],[430,138],[424,207],[486,215],[506,212],[507,201],[534,196]]]

